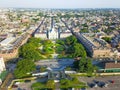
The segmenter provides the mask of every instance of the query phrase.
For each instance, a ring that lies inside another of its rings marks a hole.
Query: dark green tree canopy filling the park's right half
[[[75,36],[67,37],[64,40],[57,40],[56,52],[59,53],[59,57],[86,57],[86,51],[82,44],[78,43]]]

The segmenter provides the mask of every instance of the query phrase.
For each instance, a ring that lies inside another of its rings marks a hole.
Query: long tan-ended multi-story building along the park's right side
[[[93,58],[111,57],[111,48],[100,38],[90,37],[91,34],[75,33],[77,39],[85,47],[89,56]]]

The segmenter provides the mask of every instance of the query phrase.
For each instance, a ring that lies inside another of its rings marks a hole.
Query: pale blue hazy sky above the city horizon
[[[120,0],[0,0],[0,7],[120,8]]]

